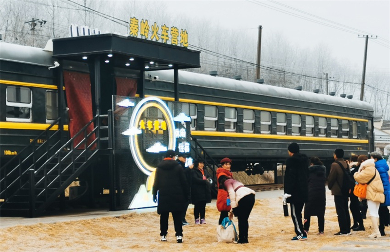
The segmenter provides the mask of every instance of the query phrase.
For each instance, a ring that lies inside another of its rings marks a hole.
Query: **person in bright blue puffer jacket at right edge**
[[[390,215],[388,206],[390,206],[390,182],[389,166],[386,159],[378,152],[371,152],[370,157],[375,160],[375,168],[381,176],[385,194],[385,202],[379,206],[379,231],[382,236],[385,235],[385,226],[390,226]]]

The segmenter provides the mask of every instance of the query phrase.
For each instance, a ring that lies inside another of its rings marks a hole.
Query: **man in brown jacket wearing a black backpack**
[[[334,205],[336,207],[338,226],[340,231],[334,235],[350,235],[351,234],[351,217],[348,211],[348,196],[343,195],[341,188],[343,187],[343,169],[348,170],[349,167],[344,161],[344,151],[342,149],[335,149],[333,154],[334,162],[331,165],[331,171],[328,176],[328,188],[334,195]],[[343,166],[341,168],[340,164]]]

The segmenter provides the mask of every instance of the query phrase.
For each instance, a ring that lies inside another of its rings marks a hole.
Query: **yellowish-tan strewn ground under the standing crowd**
[[[192,220],[192,211],[187,220]],[[257,199],[249,218],[249,244],[225,244],[216,242],[216,224],[219,212],[215,207],[206,208],[206,225],[184,227],[184,243],[177,244],[170,216],[168,242],[159,241],[159,215],[130,213],[119,217],[103,217],[91,220],[36,224],[0,229],[2,252],[198,252],[198,251],[320,251],[321,247],[337,246],[359,249],[384,249],[375,245],[343,244],[346,241],[368,241],[372,231],[370,221],[365,220],[366,232],[350,236],[334,236],[338,232],[333,197],[327,192],[325,235],[318,235],[317,218],[312,217],[309,239],[290,241],[293,232],[291,217],[283,217],[281,198]],[[237,226],[237,220],[234,220]],[[388,236],[388,235],[387,235]],[[369,240],[374,241],[374,240]]]

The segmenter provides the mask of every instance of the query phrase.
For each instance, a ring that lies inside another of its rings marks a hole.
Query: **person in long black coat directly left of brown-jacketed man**
[[[316,156],[313,156],[310,159],[310,165],[308,178],[309,194],[308,202],[305,204],[305,211],[303,214],[303,229],[306,233],[309,233],[310,216],[317,216],[318,234],[324,234],[326,168]]]

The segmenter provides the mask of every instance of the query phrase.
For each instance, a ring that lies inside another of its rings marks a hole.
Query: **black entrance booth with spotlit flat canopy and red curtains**
[[[170,110],[178,115],[181,112],[178,69],[200,67],[199,54],[184,47],[116,34],[53,39],[53,58],[59,62],[56,70],[59,117],[64,118],[64,111],[68,110],[70,137],[97,118],[93,122],[97,130],[92,135],[96,141],[93,148],[98,150],[98,155],[78,177],[80,183],[85,181],[88,185],[90,192],[84,199],[89,200],[90,206],[103,198],[109,203],[110,211],[127,209],[140,186],[148,180],[148,175],[138,169],[133,159],[129,136],[122,134],[129,126],[134,108],[118,103],[129,99],[140,102],[145,97],[148,72],[172,69],[174,101],[171,101]],[[64,99],[68,108],[61,107]],[[145,113],[153,117],[156,111]],[[162,121],[164,118],[160,123]],[[177,127],[184,125],[171,123]],[[59,129],[63,130],[63,126],[64,122],[59,121]],[[149,138],[160,137],[167,142],[169,134],[174,133],[160,129]],[[188,133],[183,139],[189,136]],[[153,164],[159,160],[156,155],[149,159]]]

